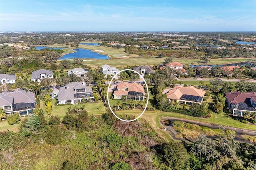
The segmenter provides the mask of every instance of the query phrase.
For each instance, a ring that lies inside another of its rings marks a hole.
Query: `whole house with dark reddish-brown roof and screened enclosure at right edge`
[[[227,92],[225,95],[232,115],[242,116],[245,111],[256,111],[256,92],[241,93],[240,91],[234,91],[233,93]]]

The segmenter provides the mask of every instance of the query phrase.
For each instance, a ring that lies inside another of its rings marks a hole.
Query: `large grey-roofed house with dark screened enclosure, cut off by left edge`
[[[16,89],[13,92],[0,93],[0,108],[6,111],[6,115],[18,113],[19,116],[33,114],[36,108],[35,94],[22,89]]]

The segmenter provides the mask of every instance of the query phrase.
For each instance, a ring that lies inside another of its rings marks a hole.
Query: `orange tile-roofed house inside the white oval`
[[[122,96],[126,96],[126,100],[144,100],[144,88],[141,84],[136,82],[123,81],[118,83],[114,87],[114,99],[122,99]]]

